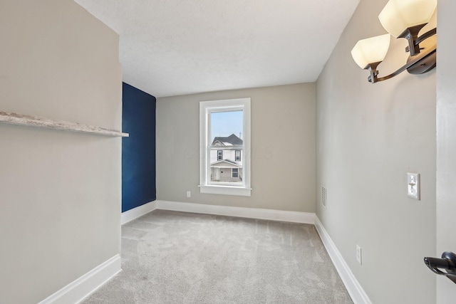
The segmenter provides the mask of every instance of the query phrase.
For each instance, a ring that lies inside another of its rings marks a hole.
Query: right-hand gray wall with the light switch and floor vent
[[[373,85],[350,53],[385,33],[386,2],[361,0],[317,81],[317,195],[328,188],[317,215],[373,303],[434,303],[423,256],[435,252],[435,70]],[[404,48],[392,41],[380,76],[405,63]],[[420,201],[407,172],[421,174]]]

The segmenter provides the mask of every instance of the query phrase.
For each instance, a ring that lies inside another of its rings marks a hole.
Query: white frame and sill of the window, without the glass
[[[242,162],[242,182],[239,183],[214,183],[210,182],[210,134],[211,113],[225,111],[243,111],[243,143],[241,154],[244,155]],[[250,98],[238,98],[229,100],[209,100],[199,103],[199,191],[207,194],[224,194],[237,196],[251,196],[250,188]]]

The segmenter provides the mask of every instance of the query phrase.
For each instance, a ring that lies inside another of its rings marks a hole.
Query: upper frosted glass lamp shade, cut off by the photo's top
[[[395,38],[412,26],[429,22],[437,0],[390,0],[378,15],[380,23]]]

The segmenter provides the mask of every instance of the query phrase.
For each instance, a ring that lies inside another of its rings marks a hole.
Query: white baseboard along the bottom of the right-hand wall
[[[328,232],[321,224],[321,221],[318,219],[318,216],[315,216],[315,227],[316,231],[320,235],[321,241],[323,241],[323,245],[328,251],[329,257],[333,261],[334,266],[336,266],[336,270],[341,276],[343,284],[345,284],[348,293],[355,304],[371,304],[371,300],[369,299],[366,292],[363,290],[361,284],[356,280],[356,277],[351,272],[351,269],[348,267],[348,264],[343,259],[341,252],[338,251],[336,244],[333,242],[331,237],[329,236]]]

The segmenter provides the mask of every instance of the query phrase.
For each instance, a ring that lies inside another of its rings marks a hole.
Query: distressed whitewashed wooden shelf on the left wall
[[[26,125],[28,127],[45,127],[47,129],[86,132],[105,136],[128,137],[128,133],[123,133],[117,130],[110,130],[104,127],[96,127],[93,125],[82,125],[76,122],[66,122],[62,120],[49,120],[43,117],[35,117],[31,115],[21,115],[12,112],[0,111],[0,122],[11,125]]]

